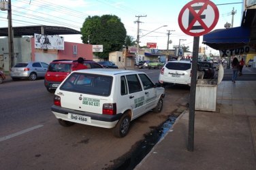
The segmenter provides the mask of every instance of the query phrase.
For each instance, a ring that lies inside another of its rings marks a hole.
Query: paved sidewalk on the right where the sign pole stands
[[[187,150],[189,111],[135,169],[256,169],[256,81],[224,81],[217,112],[195,111],[194,151]]]

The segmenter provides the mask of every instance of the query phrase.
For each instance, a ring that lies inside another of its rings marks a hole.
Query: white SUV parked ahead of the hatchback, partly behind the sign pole
[[[159,82],[165,84],[191,85],[192,63],[190,61],[168,61],[159,74]],[[197,78],[202,79],[204,71],[197,65]]]

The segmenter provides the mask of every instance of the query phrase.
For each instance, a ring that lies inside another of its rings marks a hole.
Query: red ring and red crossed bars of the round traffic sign
[[[204,3],[204,5],[202,5],[202,7],[200,8],[199,12],[196,13],[195,10],[193,9],[192,5],[195,3]],[[206,23],[204,23],[204,21],[202,20],[201,14],[202,12],[204,12],[204,10],[206,10],[206,7],[210,5],[214,11],[214,20],[212,22],[212,24],[210,25],[210,27],[208,27],[206,25]],[[191,12],[191,14],[193,15],[193,20],[191,20],[191,22],[188,24],[189,26],[187,27],[187,29],[184,27],[183,23],[182,23],[182,17],[185,13],[185,10],[189,10],[189,12]],[[212,3],[212,1],[208,1],[208,0],[194,0],[194,1],[190,1],[189,3],[187,3],[184,7],[182,7],[182,9],[180,10],[180,14],[178,15],[178,24],[180,26],[180,29],[187,35],[191,35],[191,36],[195,36],[198,37],[200,35],[204,35],[208,32],[210,32],[212,29],[214,29],[214,27],[216,26],[217,22],[219,20],[219,10],[217,8],[217,6]],[[202,27],[201,32],[197,32],[197,33],[193,33],[191,32],[191,29],[193,28],[195,22],[199,22],[200,27]]]

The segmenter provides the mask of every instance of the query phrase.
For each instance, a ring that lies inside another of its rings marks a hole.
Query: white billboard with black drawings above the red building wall
[[[64,50],[64,37],[35,33],[35,48]]]

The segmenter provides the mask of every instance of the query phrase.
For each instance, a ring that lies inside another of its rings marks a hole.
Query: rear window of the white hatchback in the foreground
[[[89,95],[109,96],[112,76],[89,73],[72,73],[61,85],[61,90],[81,92]]]

